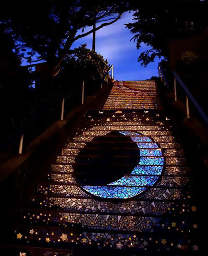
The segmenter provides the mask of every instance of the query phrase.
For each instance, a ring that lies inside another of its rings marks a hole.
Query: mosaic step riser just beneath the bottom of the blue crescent
[[[80,195],[53,195],[53,194],[47,194],[44,193],[41,194],[33,194],[31,195],[31,202],[30,205],[28,205],[30,208],[34,208],[37,210],[64,210],[64,211],[73,211],[73,212],[85,212],[87,213],[100,213],[100,212],[106,212],[107,213],[114,213],[116,215],[121,214],[135,214],[135,213],[147,213],[147,208],[151,205],[151,209],[153,210],[152,213],[158,212],[157,207],[155,205],[161,205],[161,203],[164,205],[164,203],[169,204],[170,207],[173,205],[173,203],[179,203],[180,199],[175,198],[174,194],[177,192],[176,189],[169,189],[166,190],[163,193],[163,196],[156,198],[131,198],[128,203],[118,201],[116,205],[112,208],[111,203],[107,203],[102,201],[103,207],[101,207],[101,202],[98,200],[95,200],[94,197],[89,197],[86,195],[80,196]],[[172,197],[168,195],[171,195]],[[186,202],[186,204],[191,203],[191,199],[189,198],[183,198],[183,202]],[[134,205],[134,209],[130,207],[130,205]],[[136,207],[137,205],[138,207]],[[88,206],[88,208],[86,208]],[[142,210],[142,208],[146,207],[146,210]],[[88,210],[86,210],[88,209]],[[150,209],[150,208],[149,208]],[[22,210],[24,212],[24,210]],[[32,213],[32,211],[27,211],[28,213]],[[149,213],[150,214],[150,213]]]

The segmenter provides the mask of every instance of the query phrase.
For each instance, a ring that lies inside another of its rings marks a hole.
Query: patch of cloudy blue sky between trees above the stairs
[[[137,61],[147,46],[142,45],[138,50],[136,42],[131,41],[134,35],[124,24],[132,21],[132,14],[125,13],[120,20],[96,31],[95,51],[102,54],[104,59],[107,58],[109,64],[114,65],[114,79],[118,81],[146,80],[151,76],[158,76],[158,60],[146,68]],[[87,32],[87,29],[84,32]],[[72,48],[84,43],[87,43],[87,48],[92,49],[92,34],[75,41]]]

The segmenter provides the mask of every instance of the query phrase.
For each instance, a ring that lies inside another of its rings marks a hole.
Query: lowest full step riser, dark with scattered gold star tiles
[[[143,219],[141,222],[146,224]],[[148,223],[147,223],[148,224]],[[146,225],[147,225],[146,224]],[[126,223],[126,226],[128,223]],[[169,226],[169,232],[167,228]],[[185,225],[184,225],[185,226]],[[14,232],[14,239],[17,245],[22,246],[38,246],[46,248],[62,248],[62,249],[72,249],[74,251],[79,251],[79,255],[83,255],[82,251],[85,251],[86,255],[98,255],[102,253],[103,249],[105,253],[112,253],[116,249],[123,249],[124,253],[114,255],[134,255],[139,249],[143,251],[145,248],[148,251],[158,251],[167,252],[166,248],[173,248],[171,251],[174,253],[178,252],[178,246],[183,244],[186,239],[189,239],[188,231],[184,232],[183,239],[181,239],[180,231],[181,227],[175,227],[175,223],[170,221],[168,225],[164,224],[165,228],[158,228],[158,230],[153,230],[149,228],[149,231],[135,232],[135,231],[110,231],[110,230],[92,230],[89,229],[78,229],[78,228],[67,228],[67,227],[53,227],[53,226],[37,226],[37,225],[16,225]],[[179,232],[178,232],[179,231]],[[156,233],[157,232],[157,233]],[[166,244],[166,248],[164,248]],[[173,246],[174,247],[173,247]],[[182,246],[181,246],[182,247]],[[190,249],[192,244],[190,245]],[[28,247],[27,247],[28,248]],[[186,248],[187,249],[187,248]],[[193,248],[192,248],[193,249]],[[92,253],[89,254],[89,252]],[[48,249],[50,251],[50,249]],[[115,251],[117,253],[117,251]],[[46,254],[50,255],[50,254]],[[61,254],[63,255],[63,254]],[[71,255],[71,254],[70,254]],[[76,253],[77,255],[77,253]],[[102,254],[106,255],[106,254]],[[112,255],[112,254],[109,254]],[[148,255],[148,254],[146,254]],[[185,255],[185,254],[183,254]]]

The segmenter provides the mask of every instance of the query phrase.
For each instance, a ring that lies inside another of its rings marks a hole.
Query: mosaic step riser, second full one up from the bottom
[[[73,204],[74,201],[68,203]],[[80,202],[81,203],[81,202]],[[81,208],[79,208],[81,207]],[[104,211],[94,211],[94,206],[91,206],[86,213],[86,208],[83,209],[79,205],[78,211],[63,211],[63,210],[48,210],[48,209],[24,209],[21,214],[22,221],[27,224],[34,223],[37,226],[55,226],[64,228],[82,228],[100,231],[130,231],[130,232],[148,232],[151,226],[158,223],[158,218],[161,217],[162,202],[154,202],[149,206],[136,204],[135,208],[139,210],[137,213],[111,213]],[[171,203],[170,203],[171,207]],[[181,210],[183,209],[180,205]],[[93,213],[92,213],[93,211]],[[169,218],[173,218],[169,216]],[[166,217],[165,217],[166,218]],[[141,223],[144,221],[144,224]],[[187,224],[186,224],[187,225]],[[186,226],[184,225],[184,226]],[[170,231],[175,232],[175,229]]]

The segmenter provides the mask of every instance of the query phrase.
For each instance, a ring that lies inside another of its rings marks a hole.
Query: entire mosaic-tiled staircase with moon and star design
[[[156,83],[115,82],[22,209],[8,255],[192,255],[188,170]]]

